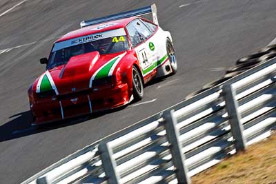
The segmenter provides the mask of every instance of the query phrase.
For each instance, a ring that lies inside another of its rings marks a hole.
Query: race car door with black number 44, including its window
[[[151,43],[148,39],[152,35],[152,32],[150,32],[146,25],[139,19],[135,19],[134,21],[130,22],[126,26],[126,29],[128,30],[132,47],[137,53],[137,57],[141,65],[141,72],[143,76],[147,76],[154,72],[154,69],[156,68],[156,52],[154,48],[152,49],[151,47],[150,49],[149,44]]]

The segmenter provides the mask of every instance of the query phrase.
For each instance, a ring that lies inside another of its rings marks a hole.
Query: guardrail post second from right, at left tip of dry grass
[[[164,112],[166,121],[166,134],[170,143],[170,153],[172,154],[172,163],[176,167],[177,181],[181,184],[189,184],[188,168],[186,167],[185,155],[182,154],[182,145],[179,143],[179,131],[177,130],[177,120],[173,115],[174,110]]]

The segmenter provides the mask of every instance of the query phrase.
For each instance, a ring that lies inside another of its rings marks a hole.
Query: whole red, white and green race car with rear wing
[[[137,17],[152,13],[153,23]],[[52,46],[46,71],[28,90],[32,125],[140,100],[154,77],[177,72],[170,32],[156,6],[81,22]]]

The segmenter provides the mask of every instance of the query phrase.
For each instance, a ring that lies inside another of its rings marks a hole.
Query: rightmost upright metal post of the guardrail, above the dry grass
[[[223,85],[222,90],[224,92],[224,100],[226,103],[226,110],[231,126],[231,132],[234,138],[235,148],[237,152],[246,149],[246,139],[244,137],[244,126],[241,123],[241,114],[239,114],[237,108],[239,107],[237,100],[235,99],[236,92],[232,85]]]

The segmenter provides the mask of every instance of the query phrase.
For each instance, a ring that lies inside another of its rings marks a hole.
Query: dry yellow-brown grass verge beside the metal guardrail
[[[192,177],[193,183],[276,184],[276,134]]]

